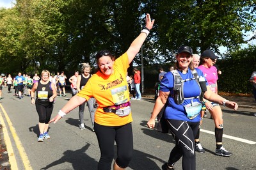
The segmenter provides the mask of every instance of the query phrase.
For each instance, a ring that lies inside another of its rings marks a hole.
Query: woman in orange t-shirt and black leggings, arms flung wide
[[[100,170],[111,169],[115,155],[115,142],[117,158],[113,169],[125,169],[131,161],[133,150],[132,115],[126,73],[129,64],[140,51],[153,25],[154,20],[151,20],[150,15],[147,14],[145,29],[141,30],[140,35],[131,43],[129,49],[116,60],[108,50],[98,52],[96,59],[99,71],[51,120],[56,123],[89,98],[94,97],[97,100],[94,129],[101,151],[98,164]]]

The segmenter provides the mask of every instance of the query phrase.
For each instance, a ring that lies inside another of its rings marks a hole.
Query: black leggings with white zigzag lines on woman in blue
[[[176,141],[170,153],[168,165],[172,166],[182,157],[182,169],[196,169],[195,135],[199,122],[168,120],[168,126]]]

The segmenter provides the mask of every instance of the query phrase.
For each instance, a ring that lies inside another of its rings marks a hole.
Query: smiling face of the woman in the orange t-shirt
[[[113,64],[114,61],[110,56],[102,56],[98,60],[100,72],[104,73],[104,75],[111,75],[113,73]]]

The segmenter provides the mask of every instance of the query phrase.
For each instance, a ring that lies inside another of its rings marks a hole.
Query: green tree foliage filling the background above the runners
[[[255,30],[255,6],[253,0],[17,0],[14,8],[0,10],[0,72],[74,72],[84,62],[96,66],[97,51],[120,56],[128,49],[145,13],[156,19],[155,26],[129,73],[141,65],[141,55],[146,71],[173,63],[180,45],[190,45],[194,53],[218,52],[220,46],[236,50],[225,59],[231,62],[242,57],[237,52],[246,43],[246,31]]]

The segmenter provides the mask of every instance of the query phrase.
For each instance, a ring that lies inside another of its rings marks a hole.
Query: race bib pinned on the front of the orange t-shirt
[[[127,91],[127,86],[111,89],[111,95],[115,105],[120,105],[124,104],[125,102],[128,102],[129,93]]]

